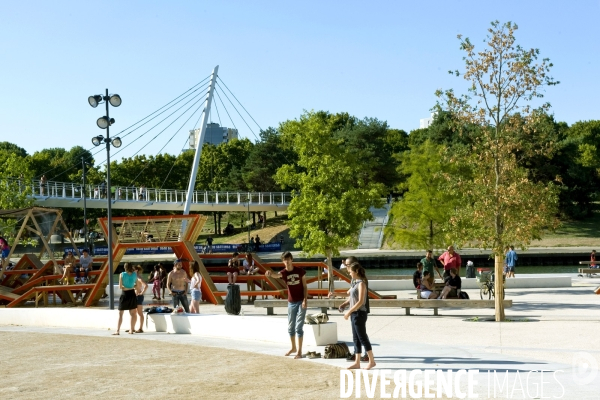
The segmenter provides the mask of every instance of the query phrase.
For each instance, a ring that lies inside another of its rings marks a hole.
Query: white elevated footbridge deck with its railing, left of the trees
[[[29,184],[28,184],[29,185]],[[83,185],[71,182],[34,180],[30,197],[37,206],[52,208],[106,208],[109,195],[105,185]],[[18,181],[25,189],[25,183]],[[181,211],[187,190],[112,186],[110,199],[113,209]],[[191,211],[284,211],[290,192],[210,192],[195,191]]]

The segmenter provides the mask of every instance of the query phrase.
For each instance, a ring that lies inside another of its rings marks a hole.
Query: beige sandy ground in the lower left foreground
[[[11,399],[339,398],[339,369],[121,337],[0,332],[0,397]]]

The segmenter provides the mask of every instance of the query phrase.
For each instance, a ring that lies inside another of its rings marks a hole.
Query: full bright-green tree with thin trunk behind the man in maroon
[[[279,128],[298,154],[297,165],[283,165],[275,176],[278,184],[298,188],[288,208],[290,235],[307,254],[325,254],[330,266],[341,247],[358,244],[363,221],[373,218],[369,208],[381,206],[384,192],[336,135],[347,120],[344,114],[305,112]]]

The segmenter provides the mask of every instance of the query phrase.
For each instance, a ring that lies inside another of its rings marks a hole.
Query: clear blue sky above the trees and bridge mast
[[[109,88],[123,98],[111,109],[114,134],[215,65],[263,128],[313,109],[411,131],[429,116],[436,89],[464,92],[465,82],[447,73],[462,66],[456,35],[480,44],[495,19],[516,22],[518,43],[554,63],[561,84],[546,100],[557,120],[598,119],[599,16],[599,0],[2,1],[0,141],[29,153],[91,148],[104,113],[88,105],[89,95]],[[234,123],[254,140],[239,118]],[[164,151],[178,153],[190,128]],[[156,154],[173,134],[142,153]]]

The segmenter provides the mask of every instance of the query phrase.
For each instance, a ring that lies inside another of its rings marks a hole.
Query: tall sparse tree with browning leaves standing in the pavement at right
[[[459,244],[475,240],[492,249],[496,276],[500,277],[506,246],[525,246],[555,224],[556,187],[532,180],[518,165],[517,153],[550,155],[555,151],[552,142],[534,144],[531,139],[549,105],[532,110],[530,102],[543,96],[543,87],[558,82],[549,75],[552,64],[547,59],[537,62],[539,50],[526,50],[515,43],[516,24],[495,21],[491,25],[486,46],[479,52],[468,38],[458,36],[465,52],[463,77],[475,101],[467,95],[456,96],[452,90],[437,95],[440,108],[455,116],[454,129],[464,131],[465,124],[481,127],[473,138],[470,156],[465,157],[472,175],[469,179],[454,177],[447,185],[450,195],[462,196],[461,207],[449,222]],[[458,71],[455,74],[460,75]],[[454,161],[452,154],[448,158]],[[496,279],[497,321],[505,318],[502,287],[502,279]]]

